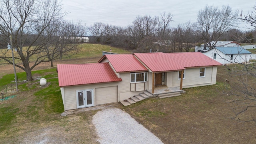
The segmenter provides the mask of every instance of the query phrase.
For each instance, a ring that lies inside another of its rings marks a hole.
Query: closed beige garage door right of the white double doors
[[[117,86],[96,88],[96,105],[117,102]]]

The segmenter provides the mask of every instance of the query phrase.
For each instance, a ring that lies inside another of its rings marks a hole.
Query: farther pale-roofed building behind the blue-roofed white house
[[[210,42],[210,44],[214,44],[214,41]],[[206,49],[204,49],[204,44],[195,47],[195,52],[200,52],[204,50],[210,50],[210,44],[207,44]],[[218,41],[216,42],[214,47],[237,47],[240,46],[237,42],[233,41]]]

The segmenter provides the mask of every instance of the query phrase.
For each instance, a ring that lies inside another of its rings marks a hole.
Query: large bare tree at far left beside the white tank
[[[4,41],[12,35],[12,48],[17,49],[22,65],[16,64],[26,72],[27,80],[33,80],[31,71],[41,62],[49,61],[44,52],[46,41],[42,40],[45,29],[50,26],[52,20],[61,19],[64,14],[60,12],[61,4],[58,0],[0,0],[0,33]],[[26,46],[26,47],[24,47]],[[12,64],[10,57],[2,50],[0,58]],[[36,57],[34,64],[29,65],[31,57]]]

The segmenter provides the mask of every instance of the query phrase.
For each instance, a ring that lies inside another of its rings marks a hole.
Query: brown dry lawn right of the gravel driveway
[[[229,103],[234,96],[225,82],[230,79],[225,66],[218,68],[217,77],[216,85],[186,88],[182,96],[150,98],[120,108],[166,144],[255,144],[255,122],[232,120],[236,104]]]

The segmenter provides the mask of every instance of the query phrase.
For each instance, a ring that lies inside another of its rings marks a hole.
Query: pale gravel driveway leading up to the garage
[[[161,140],[118,108],[107,108],[93,116],[101,144],[163,144]]]

